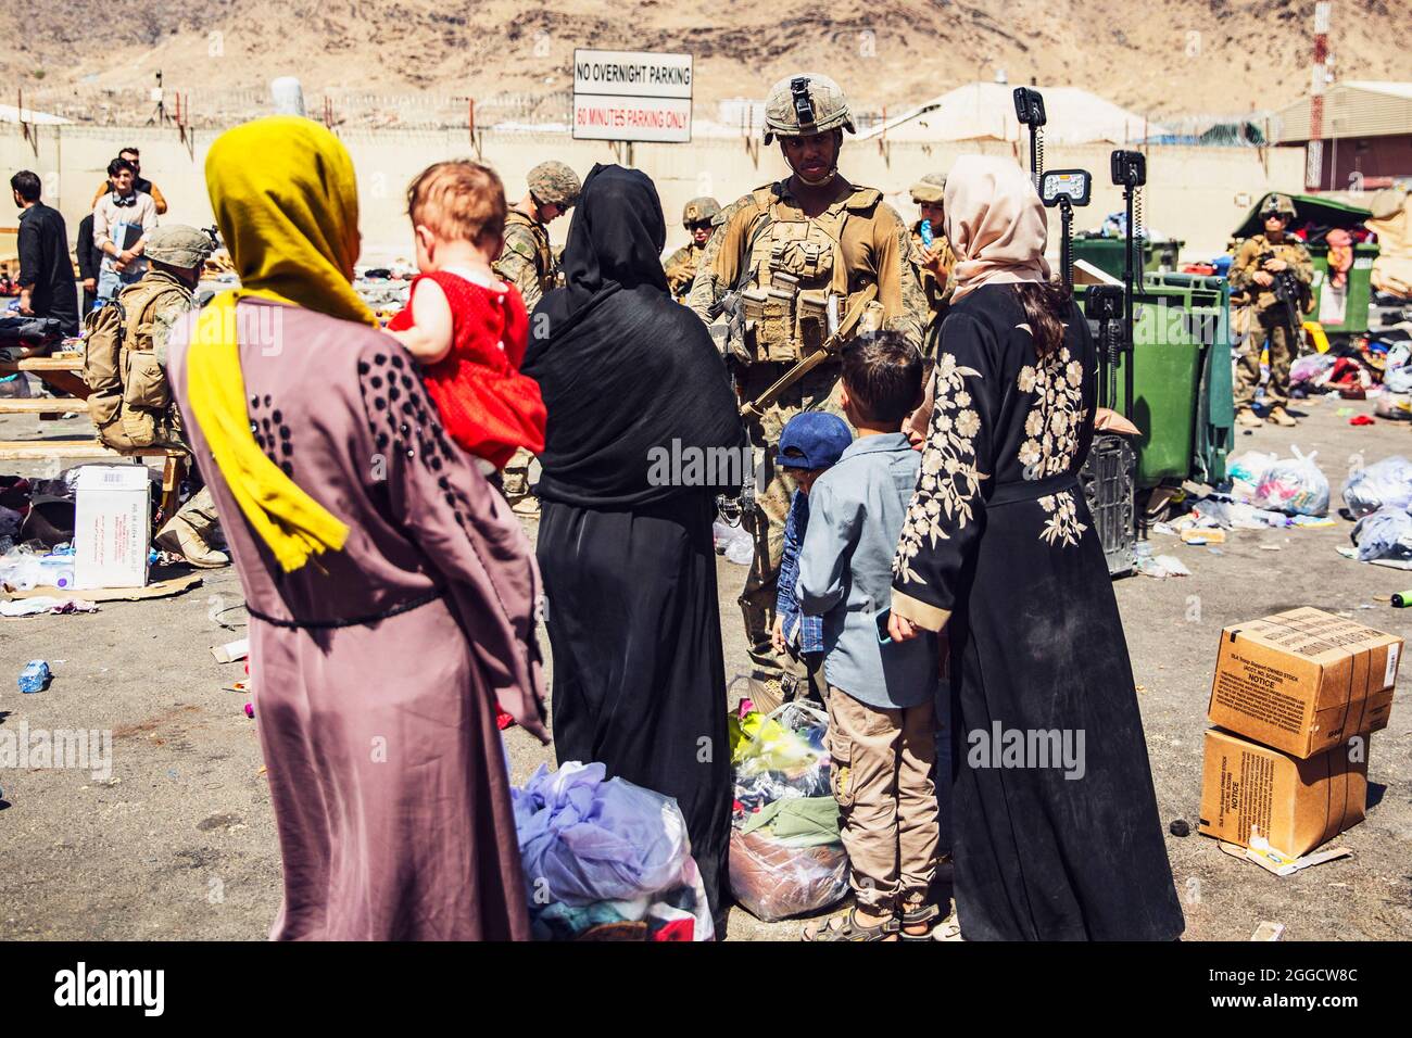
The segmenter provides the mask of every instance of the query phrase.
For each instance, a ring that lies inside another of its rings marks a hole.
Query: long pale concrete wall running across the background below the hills
[[[89,209],[93,189],[104,178],[107,162],[123,145],[137,145],[143,174],[167,196],[165,220],[210,223],[203,164],[216,133],[196,131],[184,144],[174,129],[155,127],[38,127],[27,141],[18,126],[0,127],[0,169],[34,169],[45,181],[45,201],[56,205],[73,234]],[[359,171],[364,261],[387,261],[409,254],[404,191],[429,162],[473,154],[466,130],[347,130],[340,134]],[[1113,145],[1051,145],[1046,168],[1087,168],[1094,174],[1093,205],[1076,216],[1076,229],[1096,227],[1108,212],[1121,209],[1121,193],[1108,181]],[[945,171],[967,153],[1018,155],[1004,141],[947,141],[926,144],[847,140],[843,169],[856,184],[887,192],[904,216],[912,217],[908,185],[922,174]],[[679,229],[682,205],[696,195],[714,195],[722,203],[786,172],[777,147],[750,145],[738,138],[705,138],[695,144],[634,144],[628,148],[600,141],[573,141],[562,134],[494,134],[480,140],[480,158],[496,167],[511,201],[524,192],[528,169],[545,158],[558,158],[582,174],[594,162],[627,161],[657,182],[668,219],[668,244],[685,234]],[[260,155],[250,155],[258,162]],[[1145,222],[1156,232],[1186,241],[1185,258],[1220,253],[1231,229],[1252,201],[1267,191],[1298,191],[1303,184],[1303,151],[1298,148],[1187,148],[1154,147],[1148,151],[1148,185],[1144,189]],[[1052,213],[1058,232],[1058,212]],[[0,227],[14,220],[0,219]],[[568,220],[551,227],[563,239]],[[1056,240],[1056,236],[1055,236]]]

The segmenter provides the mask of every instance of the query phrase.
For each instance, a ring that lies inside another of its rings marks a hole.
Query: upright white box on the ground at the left
[[[75,483],[73,586],[143,587],[151,547],[145,465],[85,465]]]

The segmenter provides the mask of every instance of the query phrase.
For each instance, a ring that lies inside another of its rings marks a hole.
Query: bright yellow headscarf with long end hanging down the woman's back
[[[206,188],[240,288],[201,312],[186,357],[196,424],[240,511],[288,572],[340,551],[347,525],[256,445],[236,336],[236,301],[275,299],[377,326],[350,282],[359,254],[357,179],[347,150],[315,121],[257,119],[206,155]]]

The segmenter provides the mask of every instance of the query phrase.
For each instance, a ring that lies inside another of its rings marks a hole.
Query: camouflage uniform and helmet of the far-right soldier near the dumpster
[[[1288,198],[1275,195],[1272,202],[1278,203],[1278,212],[1293,216],[1293,203]],[[1230,268],[1231,290],[1250,292],[1254,298],[1251,309],[1251,335],[1245,339],[1240,363],[1236,370],[1236,408],[1248,408],[1255,400],[1255,388],[1260,386],[1260,352],[1269,343],[1269,381],[1265,384],[1265,402],[1269,407],[1284,407],[1289,402],[1289,366],[1299,350],[1300,330],[1289,326],[1288,311],[1272,288],[1262,288],[1255,284],[1255,273],[1262,270],[1265,260],[1279,258],[1289,264],[1308,295],[1309,285],[1313,284],[1315,268],[1309,250],[1303,243],[1282,236],[1275,244],[1264,234],[1245,239],[1236,253],[1236,260]],[[1305,299],[1295,304],[1295,311],[1303,316],[1308,309]]]

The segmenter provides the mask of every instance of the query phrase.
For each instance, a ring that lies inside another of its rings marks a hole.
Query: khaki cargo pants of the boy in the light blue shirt
[[[880,709],[830,685],[827,747],[857,902],[881,915],[925,900],[936,874],[935,703]]]

